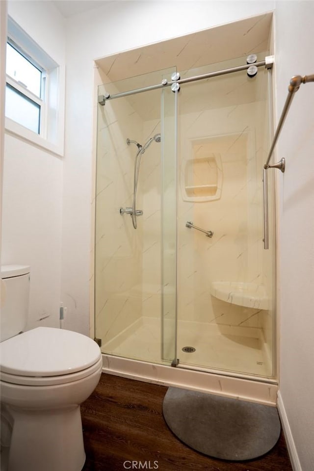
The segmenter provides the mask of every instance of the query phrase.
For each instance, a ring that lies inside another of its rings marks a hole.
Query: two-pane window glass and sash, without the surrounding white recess
[[[5,116],[43,134],[46,74],[12,41],[6,45]]]

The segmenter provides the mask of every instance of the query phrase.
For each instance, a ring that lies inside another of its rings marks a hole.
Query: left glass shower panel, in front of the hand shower
[[[107,83],[98,95],[173,72]],[[170,88],[98,106],[95,337],[104,353],[167,365],[176,341],[175,117]]]

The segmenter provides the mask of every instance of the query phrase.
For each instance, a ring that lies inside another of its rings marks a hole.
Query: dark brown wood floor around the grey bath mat
[[[165,386],[103,373],[81,405],[83,471],[292,471],[283,434],[266,455],[243,462],[210,458],[184,445],[163,419],[166,391]]]

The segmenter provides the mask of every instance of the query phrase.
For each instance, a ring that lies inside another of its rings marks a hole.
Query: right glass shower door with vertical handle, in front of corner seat
[[[260,54],[258,60],[265,55]],[[212,64],[189,70],[188,75],[228,69],[245,61],[243,57]],[[272,217],[269,250],[264,250],[262,240],[262,168],[269,149],[268,123],[267,70],[263,67],[254,78],[245,70],[181,88],[180,366],[260,377],[275,374]],[[273,207],[269,183],[269,206]]]

